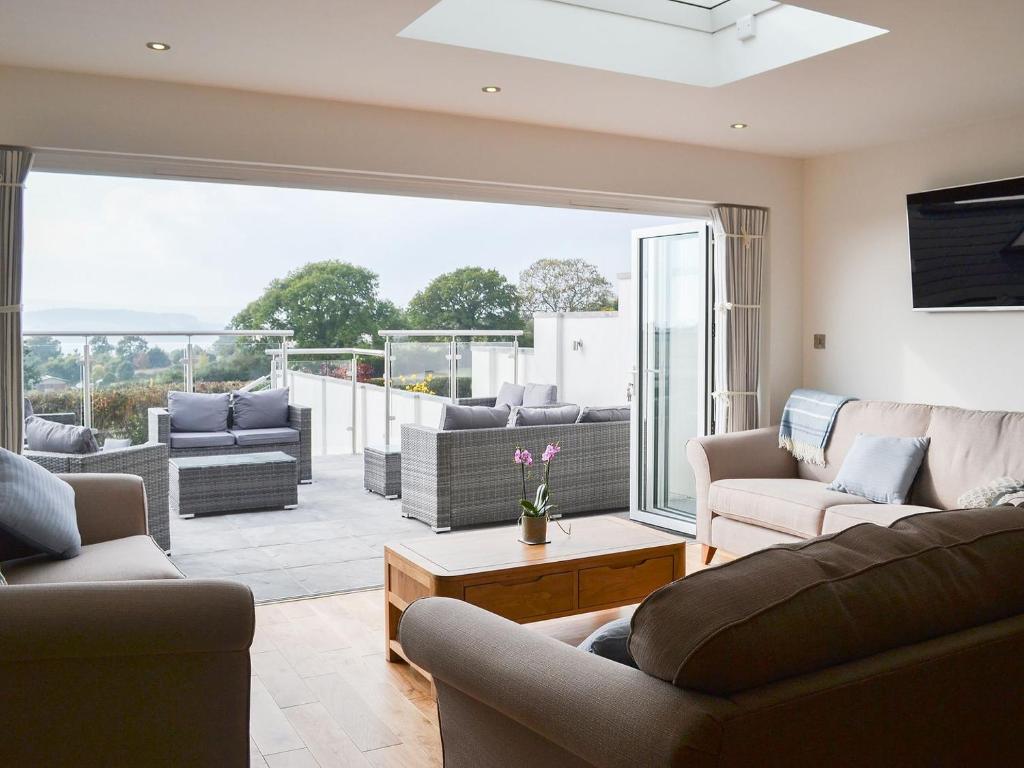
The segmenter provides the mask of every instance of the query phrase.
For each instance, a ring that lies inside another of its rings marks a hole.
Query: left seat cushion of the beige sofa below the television
[[[829,490],[816,480],[775,477],[717,480],[708,495],[708,506],[716,515],[805,539],[819,536],[825,510],[841,504],[870,502]]]

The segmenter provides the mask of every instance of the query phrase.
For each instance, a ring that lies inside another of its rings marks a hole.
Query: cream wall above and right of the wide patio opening
[[[267,179],[274,178],[274,167],[306,169],[302,184],[310,186],[336,185],[330,173],[346,171],[377,174],[378,185],[387,174],[425,177],[423,194],[444,194],[438,179],[465,179],[513,189],[525,185],[582,190],[581,199],[586,199],[584,193],[603,193],[765,206],[771,209],[766,414],[777,417],[790,391],[800,385],[801,161],[453,115],[24,68],[0,67],[0,93],[5,104],[16,104],[0,110],[0,143],[50,150],[40,155],[44,167],[95,167],[97,157],[103,157],[99,154],[113,153],[140,156],[131,159],[125,172],[141,174],[166,173],[170,166],[162,159],[204,159],[262,164],[261,178]],[[76,161],[76,153],[88,153],[88,162]],[[245,178],[247,171],[225,165],[211,175]],[[523,195],[524,200],[529,197]]]

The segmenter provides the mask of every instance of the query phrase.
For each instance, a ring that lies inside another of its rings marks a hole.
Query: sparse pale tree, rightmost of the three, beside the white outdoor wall
[[[611,284],[583,259],[541,259],[519,274],[528,312],[593,312],[614,306]]]

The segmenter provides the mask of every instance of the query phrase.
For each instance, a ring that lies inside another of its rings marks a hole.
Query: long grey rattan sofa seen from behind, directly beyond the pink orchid
[[[403,424],[401,513],[436,531],[516,520],[522,486],[512,455],[521,446],[539,459],[556,440],[562,452],[552,465],[551,490],[559,513],[629,507],[629,422],[455,431]]]

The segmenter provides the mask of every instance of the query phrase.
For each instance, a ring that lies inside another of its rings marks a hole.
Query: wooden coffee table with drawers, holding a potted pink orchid
[[[507,526],[384,548],[387,659],[408,660],[398,620],[421,597],[452,597],[519,624],[632,605],[686,575],[685,540],[618,517],[551,523],[527,546]]]

